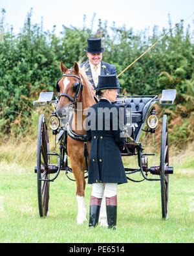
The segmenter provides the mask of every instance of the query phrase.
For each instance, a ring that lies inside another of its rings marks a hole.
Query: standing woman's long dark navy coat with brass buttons
[[[88,178],[90,184],[127,182],[120,154],[124,147],[124,137],[120,137],[118,113],[118,106],[106,99],[100,100],[89,109],[87,124],[90,129],[87,130],[87,137],[91,141]]]

